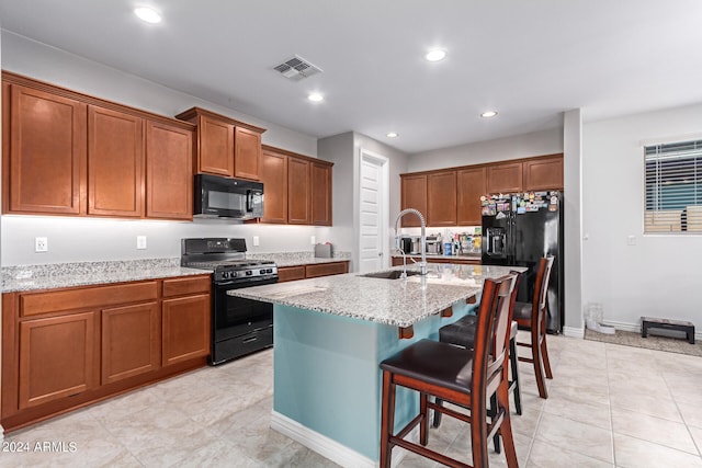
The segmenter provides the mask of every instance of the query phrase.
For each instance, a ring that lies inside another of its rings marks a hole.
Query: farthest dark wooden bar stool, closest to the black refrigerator
[[[513,315],[519,328],[530,331],[531,341],[529,343],[518,341],[517,345],[531,349],[531,357],[519,356],[519,361],[534,365],[536,387],[539,387],[541,398],[548,398],[544,375],[546,378],[553,378],[548,347],[546,346],[546,293],[548,292],[553,261],[554,256],[539,260],[534,281],[534,298],[531,304],[517,301]]]

